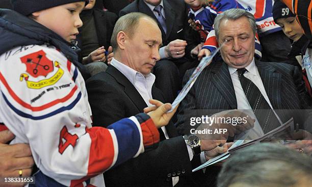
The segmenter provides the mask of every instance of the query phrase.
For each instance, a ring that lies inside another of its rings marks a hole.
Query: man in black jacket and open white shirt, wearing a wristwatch
[[[162,92],[153,84],[155,76],[150,73],[160,59],[162,38],[157,23],[142,13],[122,16],[116,23],[111,43],[115,53],[111,65],[105,73],[86,82],[95,126],[143,111],[151,106],[149,99],[164,100]],[[156,149],[107,171],[106,185],[188,185],[183,176],[192,173],[192,148],[182,136],[177,136],[172,123],[160,129],[160,134],[161,142]],[[200,149],[226,151],[218,147],[221,142],[225,143],[224,139],[201,139]]]

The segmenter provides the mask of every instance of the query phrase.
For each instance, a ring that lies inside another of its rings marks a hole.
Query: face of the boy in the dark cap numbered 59
[[[298,24],[296,17],[279,18],[276,21],[285,35],[294,41],[298,41],[303,35],[303,31]]]

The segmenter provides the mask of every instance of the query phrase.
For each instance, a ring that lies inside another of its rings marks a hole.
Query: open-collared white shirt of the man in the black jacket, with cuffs
[[[119,62],[115,58],[112,59],[111,65],[116,67],[116,69],[118,69],[118,71],[121,72],[134,85],[134,87],[138,90],[138,92],[144,99],[147,106],[152,106],[148,102],[148,100],[153,99],[151,95],[151,88],[155,82],[155,76],[152,73],[149,73],[148,75],[144,76],[143,74],[135,71],[133,68]],[[169,139],[167,130],[164,126],[162,127],[162,130],[165,134],[166,139]],[[189,146],[187,147],[188,147],[188,152],[189,152],[189,156],[191,159],[191,155],[193,158],[193,152]],[[178,181],[179,181],[179,177],[172,177],[173,186],[176,185]]]

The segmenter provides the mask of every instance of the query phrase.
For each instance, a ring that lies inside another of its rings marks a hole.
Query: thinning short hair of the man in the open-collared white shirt
[[[136,28],[139,25],[139,20],[143,17],[150,19],[157,25],[157,22],[153,18],[140,12],[128,13],[124,16],[121,16],[117,20],[111,38],[111,45],[114,51],[118,49],[117,34],[120,31],[123,31],[127,34],[128,37],[132,38],[136,31]]]

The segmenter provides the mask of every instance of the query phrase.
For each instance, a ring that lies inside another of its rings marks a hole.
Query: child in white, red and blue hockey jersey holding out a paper
[[[170,105],[151,101],[159,108],[148,115],[92,127],[85,82],[70,48],[87,1],[11,2],[15,11],[0,9],[0,123],[15,134],[11,144],[30,145],[39,168],[35,185],[104,186],[102,173],[159,142],[156,127],[174,112],[164,114]]]

